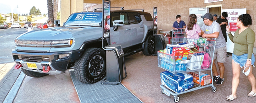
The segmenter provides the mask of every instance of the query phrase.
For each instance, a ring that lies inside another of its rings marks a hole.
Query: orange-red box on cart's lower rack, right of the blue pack
[[[189,74],[193,76],[193,81],[197,84],[201,82],[201,85],[206,85],[212,81],[211,76],[203,72],[200,72],[200,76],[199,72],[189,72]]]

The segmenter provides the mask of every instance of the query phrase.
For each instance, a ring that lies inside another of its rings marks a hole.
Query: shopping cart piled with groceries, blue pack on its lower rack
[[[161,93],[173,95],[174,102],[178,102],[178,95],[201,88],[211,87],[216,92],[211,79],[216,39],[179,40],[182,43],[158,51],[158,67],[167,70],[161,72]],[[209,70],[211,75],[203,72]]]

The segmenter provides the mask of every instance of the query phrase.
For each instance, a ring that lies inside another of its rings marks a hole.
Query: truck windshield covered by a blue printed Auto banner
[[[100,26],[102,13],[83,12],[74,13],[69,16],[65,26]]]

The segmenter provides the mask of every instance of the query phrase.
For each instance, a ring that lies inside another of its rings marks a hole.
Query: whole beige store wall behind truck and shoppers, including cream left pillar
[[[250,28],[256,32],[256,9],[254,9],[256,0],[204,2],[205,0],[111,0],[111,7],[124,7],[125,10],[145,9],[151,15],[153,15],[153,7],[157,7],[157,26],[158,29],[162,29],[163,31],[170,31],[172,29],[173,22],[176,21],[176,15],[181,15],[181,20],[187,24],[189,8],[202,8],[209,5],[221,5],[221,9],[246,8],[246,13],[252,17],[252,26]],[[102,0],[61,0],[61,23],[65,22],[70,14],[83,11],[83,3],[99,4],[93,8],[102,7],[100,5],[102,4]],[[254,46],[256,47],[256,43]]]

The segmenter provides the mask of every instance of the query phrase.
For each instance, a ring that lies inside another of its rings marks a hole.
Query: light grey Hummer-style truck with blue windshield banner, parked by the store
[[[12,56],[27,76],[43,77],[74,69],[84,83],[95,83],[106,75],[106,51],[102,49],[102,25],[110,30],[104,46],[121,45],[124,56],[155,52],[153,18],[139,10],[111,10],[102,23],[102,10],[73,13],[61,27],[34,30],[15,39]],[[122,22],[115,26],[113,21]],[[155,32],[155,31],[154,31]]]

